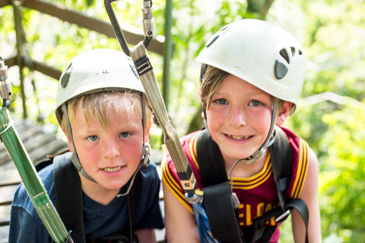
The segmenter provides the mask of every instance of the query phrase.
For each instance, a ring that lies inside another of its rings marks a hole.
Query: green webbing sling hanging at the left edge
[[[0,108],[0,138],[14,161],[28,195],[53,241],[66,242],[69,235],[66,227],[49,199],[18,132],[12,126],[9,111],[3,107]]]

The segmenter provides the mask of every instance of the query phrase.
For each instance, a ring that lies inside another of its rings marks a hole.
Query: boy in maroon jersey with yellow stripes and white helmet
[[[232,172],[233,192],[240,202],[238,224],[243,232],[254,231],[254,219],[280,205],[268,147],[274,140],[275,125],[282,125],[296,109],[306,74],[303,48],[288,32],[265,21],[245,19],[213,35],[197,61],[205,69],[199,94],[206,129],[219,147],[228,179]],[[304,140],[282,129],[293,160],[285,200],[300,198],[306,203],[309,242],[320,242],[318,160]],[[204,187],[197,162],[200,133],[181,138],[198,189]],[[192,206],[169,154],[163,150],[166,239],[200,242]],[[266,224],[276,227],[275,217]],[[292,225],[295,242],[305,242],[306,228],[296,210],[292,211]],[[269,242],[277,242],[279,236],[276,227]]]

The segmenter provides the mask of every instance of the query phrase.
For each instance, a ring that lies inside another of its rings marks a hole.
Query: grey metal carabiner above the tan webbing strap
[[[129,48],[127,45],[127,41],[124,38],[123,31],[119,26],[118,20],[116,19],[112,2],[115,2],[118,0],[104,0],[105,9],[107,10],[110,22],[112,24],[113,30],[115,32],[116,38],[118,39],[118,42],[120,44],[120,47],[122,48],[124,54],[127,56],[130,56]],[[143,0],[143,5],[141,6],[142,9],[142,26],[143,26],[143,32],[145,34],[145,39],[143,40],[143,45],[145,48],[149,46],[151,43],[153,34],[154,34],[154,18],[153,18],[153,5],[151,0]]]

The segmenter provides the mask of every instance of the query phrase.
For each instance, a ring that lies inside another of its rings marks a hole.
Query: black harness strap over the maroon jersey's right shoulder
[[[285,208],[285,192],[292,176],[293,154],[287,135],[283,129],[275,127],[275,141],[269,147],[271,154],[271,164],[276,186],[277,195],[281,208]]]

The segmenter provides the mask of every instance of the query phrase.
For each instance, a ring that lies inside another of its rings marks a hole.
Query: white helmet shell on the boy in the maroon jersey
[[[300,43],[287,31],[257,19],[223,27],[211,36],[196,60],[294,104],[307,71]]]

